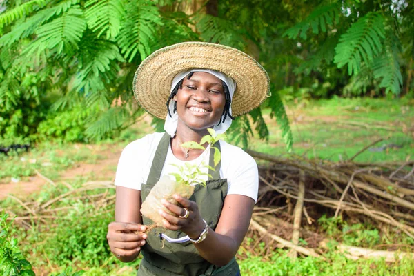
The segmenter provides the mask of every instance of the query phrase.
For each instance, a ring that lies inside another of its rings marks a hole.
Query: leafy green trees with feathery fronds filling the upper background
[[[55,112],[83,121],[85,135],[76,139],[99,139],[134,124],[143,114],[132,97],[137,66],[181,41],[222,43],[262,63],[272,83],[264,106],[288,148],[286,93],[399,95],[412,85],[414,10],[404,0],[19,0],[3,6],[3,138],[34,135],[45,120],[56,120]],[[268,137],[261,108],[237,118],[233,129],[245,146],[253,129]]]

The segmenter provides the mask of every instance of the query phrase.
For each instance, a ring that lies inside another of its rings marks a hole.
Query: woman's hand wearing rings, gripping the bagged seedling
[[[204,221],[201,218],[197,204],[180,195],[174,195],[173,197],[181,206],[170,204],[166,199],[161,199],[161,203],[166,206],[168,210],[177,215],[169,215],[164,210],[160,209],[159,214],[164,217],[164,227],[174,231],[181,230],[191,239],[198,239],[201,232],[206,227],[206,224],[204,224]],[[188,210],[188,217],[184,218],[186,209]]]

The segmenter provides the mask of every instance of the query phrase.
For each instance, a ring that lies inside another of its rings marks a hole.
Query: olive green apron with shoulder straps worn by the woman
[[[161,138],[157,151],[155,152],[154,161],[148,175],[146,184],[141,185],[141,202],[144,202],[152,187],[161,177],[161,170],[164,166],[168,147],[170,145],[170,135],[167,133]],[[215,144],[220,149],[220,144]],[[210,166],[213,166],[213,150],[210,150]],[[206,186],[197,185],[190,200],[195,201],[199,208],[201,217],[206,220],[208,226],[215,230],[221,209],[223,208],[224,198],[227,195],[227,180],[220,179],[219,163],[215,171],[210,170]],[[214,167],[214,166],[213,166]],[[153,224],[152,221],[143,217],[144,225]],[[162,240],[161,233],[168,237],[177,239],[186,236],[181,231],[172,231],[165,228],[155,228],[148,233],[145,246],[142,247],[141,253],[144,258],[139,266],[139,276],[163,276],[163,275],[216,275],[216,276],[235,276],[239,275],[239,266],[235,258],[227,264],[217,268],[203,259],[197,248],[192,242],[170,243]],[[219,250],[219,248],[217,248]]]

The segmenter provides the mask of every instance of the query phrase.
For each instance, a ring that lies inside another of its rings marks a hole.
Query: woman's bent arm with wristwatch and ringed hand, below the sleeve
[[[164,226],[170,230],[181,230],[191,239],[198,239],[205,224],[194,201],[175,195],[181,206],[188,209],[190,215],[184,219],[160,211],[164,217]],[[172,213],[184,215],[183,208],[162,201]],[[216,266],[225,266],[236,255],[247,233],[255,201],[244,195],[228,195],[224,199],[223,210],[215,231],[208,228],[203,242],[194,244],[201,257]]]

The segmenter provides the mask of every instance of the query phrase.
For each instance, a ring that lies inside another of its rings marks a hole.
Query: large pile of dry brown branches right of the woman
[[[324,239],[301,229],[302,214],[308,224],[324,213],[333,213],[335,217],[369,217],[377,226],[388,224],[414,238],[414,161],[331,163],[248,153],[257,160],[268,161],[266,166],[259,166],[259,207],[255,208],[251,226],[277,242],[278,247],[293,248],[293,255],[297,252],[319,257],[315,250],[297,246],[299,235],[308,238],[311,248],[320,246]],[[280,219],[284,216],[289,218]],[[277,235],[278,228],[279,232],[285,229],[285,233]],[[365,253],[381,253],[371,251]],[[391,256],[388,259],[393,259],[392,254],[388,255]]]

